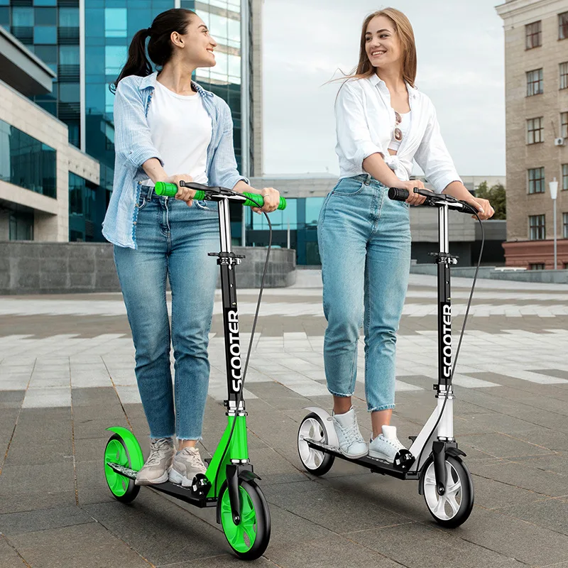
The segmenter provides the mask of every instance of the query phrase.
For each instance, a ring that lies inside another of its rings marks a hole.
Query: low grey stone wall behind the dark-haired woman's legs
[[[112,245],[108,243],[0,242],[0,295],[119,292]],[[246,254],[237,268],[239,288],[258,288],[266,249],[236,247]],[[295,283],[295,251],[273,249],[267,288]]]

